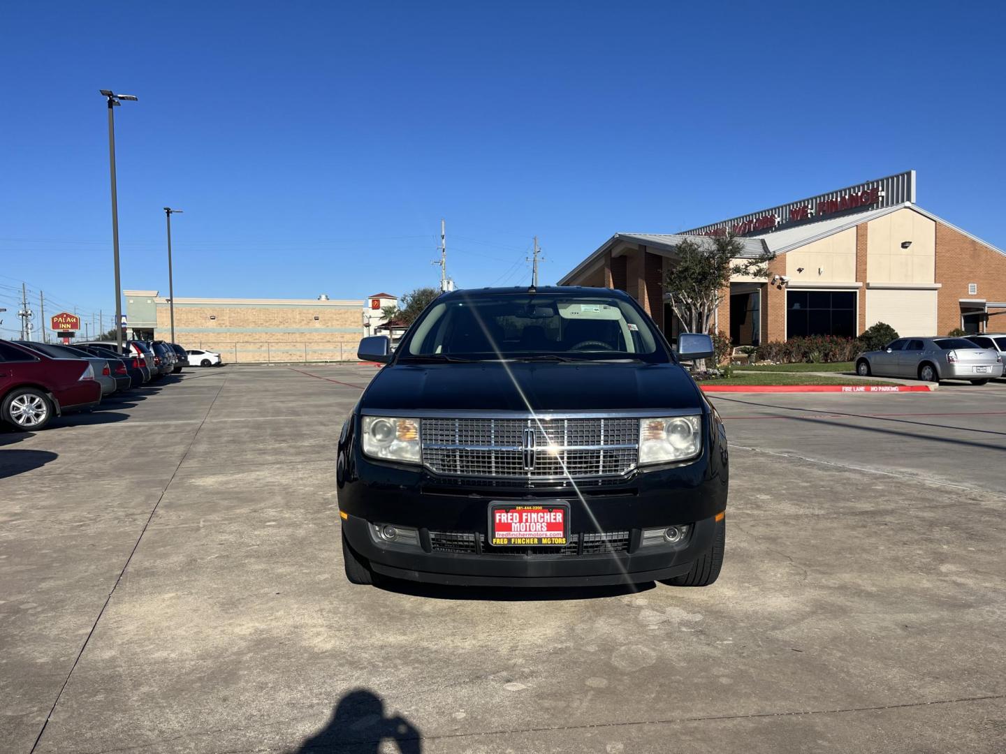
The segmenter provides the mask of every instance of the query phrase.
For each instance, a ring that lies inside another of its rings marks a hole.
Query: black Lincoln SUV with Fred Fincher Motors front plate
[[[439,297],[339,438],[346,576],[469,585],[704,586],[723,560],[726,433],[681,360],[619,291]]]

